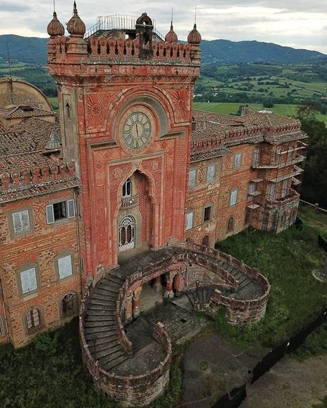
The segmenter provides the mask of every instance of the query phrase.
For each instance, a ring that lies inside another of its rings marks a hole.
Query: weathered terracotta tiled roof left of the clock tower
[[[0,203],[47,194],[79,185],[74,163],[46,148],[54,123],[32,117],[0,132]]]

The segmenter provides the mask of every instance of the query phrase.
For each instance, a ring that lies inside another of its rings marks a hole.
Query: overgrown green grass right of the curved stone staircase
[[[324,224],[327,234],[327,224]],[[313,277],[313,270],[324,263],[325,254],[317,244],[315,226],[304,221],[274,234],[246,230],[218,244],[252,267],[257,267],[271,285],[266,317],[250,327],[226,323],[224,311],[217,315],[217,332],[243,347],[260,344],[272,347],[295,334],[327,306],[326,284]]]

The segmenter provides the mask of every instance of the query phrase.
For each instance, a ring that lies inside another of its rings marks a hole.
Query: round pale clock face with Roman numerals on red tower
[[[148,143],[151,136],[151,123],[148,116],[141,112],[130,114],[123,124],[123,141],[132,147],[139,149]]]

